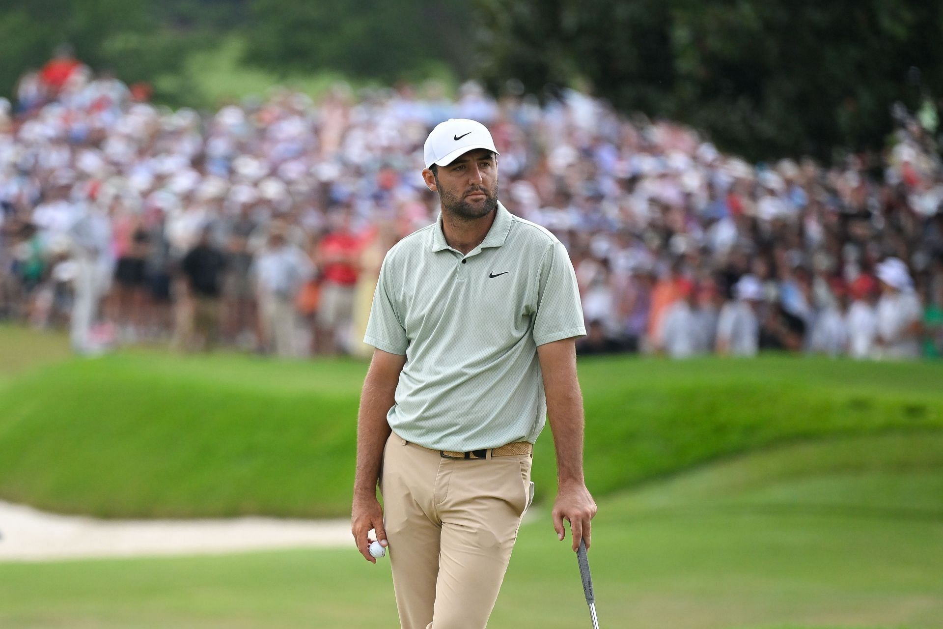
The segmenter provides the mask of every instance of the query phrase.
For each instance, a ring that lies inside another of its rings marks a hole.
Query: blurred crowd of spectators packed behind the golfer
[[[276,90],[198,113],[147,102],[69,50],[0,102],[0,320],[74,349],[171,343],[361,354],[396,240],[435,220],[422,143],[488,125],[500,198],[570,251],[583,353],[943,351],[935,111],[880,155],[752,165],[682,125],[513,81]]]

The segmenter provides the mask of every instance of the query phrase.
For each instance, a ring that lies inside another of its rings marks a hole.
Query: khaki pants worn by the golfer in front
[[[532,460],[443,458],[389,436],[380,491],[403,629],[484,629],[533,499]]]

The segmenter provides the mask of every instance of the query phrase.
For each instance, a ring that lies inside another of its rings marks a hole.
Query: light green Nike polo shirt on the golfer
[[[389,250],[364,342],[406,356],[393,431],[469,451],[536,441],[547,414],[537,346],[585,335],[566,248],[499,203],[467,256],[446,243],[441,214]]]

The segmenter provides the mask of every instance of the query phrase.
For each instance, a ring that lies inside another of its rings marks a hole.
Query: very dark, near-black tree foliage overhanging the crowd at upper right
[[[879,146],[890,105],[943,92],[943,5],[922,0],[477,0],[492,88],[588,80],[622,110],[754,159]],[[911,70],[917,68],[918,72]]]

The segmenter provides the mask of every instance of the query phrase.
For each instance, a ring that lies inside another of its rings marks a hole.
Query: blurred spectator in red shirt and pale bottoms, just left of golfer
[[[330,217],[332,230],[321,240],[321,301],[316,318],[318,351],[324,354],[349,352],[348,336],[354,319],[354,292],[361,240],[351,231],[350,210]]]

